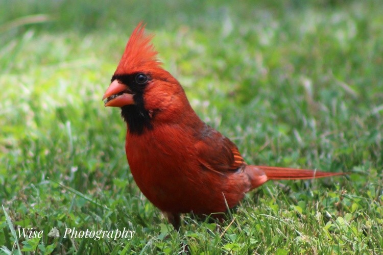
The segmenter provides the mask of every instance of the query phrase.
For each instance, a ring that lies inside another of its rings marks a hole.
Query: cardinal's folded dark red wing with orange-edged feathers
[[[233,142],[210,126],[206,125],[205,129],[194,145],[198,160],[205,168],[223,173],[246,165]]]

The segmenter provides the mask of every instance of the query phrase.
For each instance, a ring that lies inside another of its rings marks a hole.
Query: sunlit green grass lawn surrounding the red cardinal
[[[26,253],[383,251],[381,1],[3,1],[0,10],[3,252],[15,242]],[[200,117],[249,164],[351,174],[270,182],[224,222],[184,215],[173,230],[135,185],[125,124],[101,100],[140,20]],[[47,236],[54,226],[61,237]],[[25,240],[15,227],[44,234]],[[65,227],[135,235],[70,239]]]

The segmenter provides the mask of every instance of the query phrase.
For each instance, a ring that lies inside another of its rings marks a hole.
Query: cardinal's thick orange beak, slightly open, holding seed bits
[[[123,83],[119,83],[118,80],[114,80],[105,91],[103,100],[105,107],[123,107],[127,105],[134,105],[133,96],[134,94],[132,94],[128,86]]]

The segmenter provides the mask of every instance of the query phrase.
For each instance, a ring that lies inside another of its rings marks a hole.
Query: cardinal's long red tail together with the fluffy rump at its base
[[[252,188],[259,187],[269,180],[303,180],[345,174],[307,169],[252,165],[247,165],[245,167],[245,172],[251,180]]]

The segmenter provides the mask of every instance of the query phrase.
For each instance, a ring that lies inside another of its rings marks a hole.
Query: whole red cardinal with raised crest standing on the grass
[[[233,142],[197,116],[144,30],[139,23],[133,31],[103,100],[121,107],[134,181],[175,227],[181,213],[225,212],[269,180],[343,174],[247,165]]]

